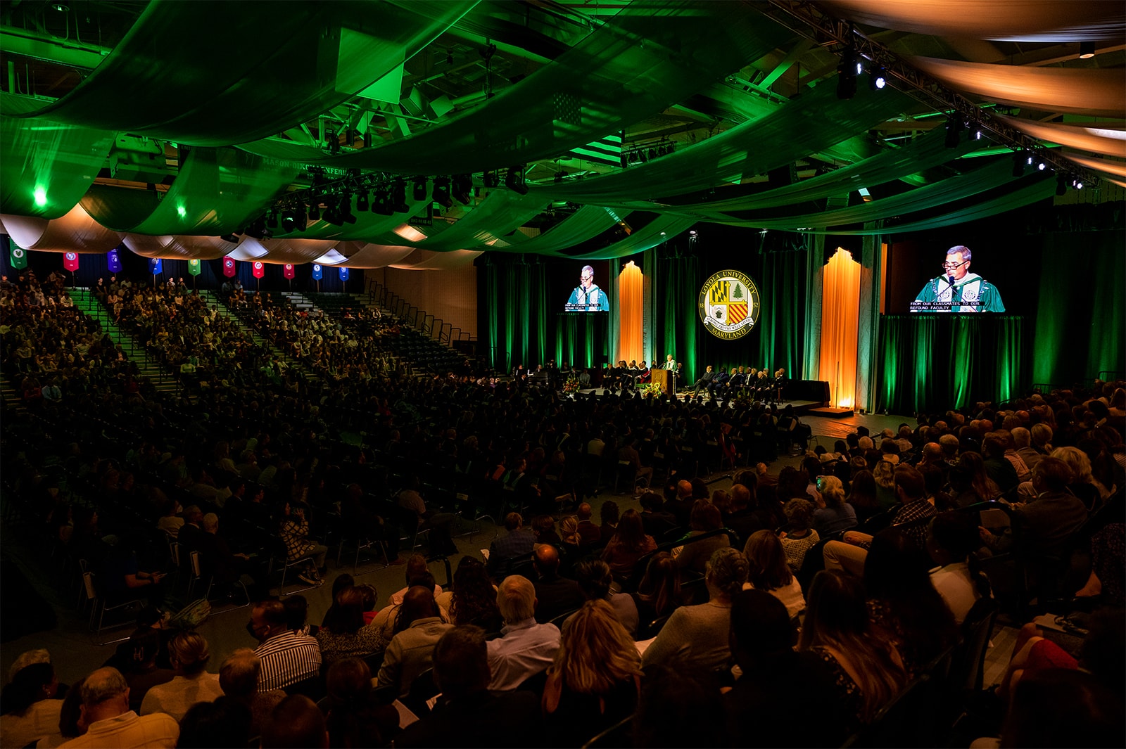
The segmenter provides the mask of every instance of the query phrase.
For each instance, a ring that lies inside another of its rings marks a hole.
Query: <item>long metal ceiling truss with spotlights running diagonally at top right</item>
[[[967,126],[968,132],[980,127],[989,133],[990,138],[1013,153],[1034,156],[1058,174],[1071,175],[1087,184],[1098,183],[1099,175],[1096,172],[1045,147],[1036,138],[1024,134],[957,91],[951,91],[903,62],[894,52],[858,31],[851,21],[831,16],[808,0],[769,0],[769,2],[776,10],[763,10],[763,15],[822,46],[838,44],[840,48],[837,54],[852,51],[866,61],[869,73],[883,67],[890,84],[894,84],[896,89],[927,106],[947,112],[951,118],[958,117],[962,124]]]

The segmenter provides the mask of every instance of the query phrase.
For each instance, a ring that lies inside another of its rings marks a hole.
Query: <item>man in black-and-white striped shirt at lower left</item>
[[[260,661],[259,691],[280,689],[321,673],[320,644],[315,638],[289,629],[280,601],[254,604],[247,631],[259,642],[254,649]]]

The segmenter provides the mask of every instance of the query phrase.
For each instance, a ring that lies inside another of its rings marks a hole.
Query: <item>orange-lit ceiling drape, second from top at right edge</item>
[[[1121,69],[1028,67],[936,57],[908,61],[953,89],[998,103],[1096,117],[1126,115]]]

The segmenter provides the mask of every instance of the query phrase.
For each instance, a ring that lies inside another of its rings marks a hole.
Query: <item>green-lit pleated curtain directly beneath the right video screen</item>
[[[1015,398],[1028,381],[1026,334],[1009,315],[885,315],[876,407],[910,415]]]

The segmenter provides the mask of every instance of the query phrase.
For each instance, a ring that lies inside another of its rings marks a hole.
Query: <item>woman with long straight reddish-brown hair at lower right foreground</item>
[[[823,570],[813,578],[798,651],[813,652],[832,669],[837,702],[854,719],[850,732],[870,722],[906,684],[895,646],[873,631],[860,580],[841,572]]]

